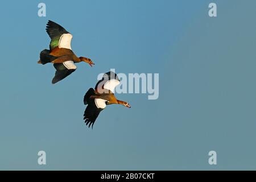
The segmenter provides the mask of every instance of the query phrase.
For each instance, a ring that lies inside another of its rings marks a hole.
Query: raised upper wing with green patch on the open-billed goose
[[[65,30],[65,28],[49,20],[46,26],[46,31],[51,38],[49,46],[51,50],[56,47],[71,49],[71,40],[73,36]]]

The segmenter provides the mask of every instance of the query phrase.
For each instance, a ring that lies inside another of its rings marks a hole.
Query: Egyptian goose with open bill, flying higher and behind
[[[84,61],[91,67],[94,64],[92,60],[86,57],[77,57],[71,49],[72,35],[61,27],[59,24],[48,21],[46,32],[51,38],[49,50],[44,49],[40,53],[38,64],[53,63],[56,69],[55,77],[52,79],[52,84],[63,80],[65,77],[76,71],[75,63]]]

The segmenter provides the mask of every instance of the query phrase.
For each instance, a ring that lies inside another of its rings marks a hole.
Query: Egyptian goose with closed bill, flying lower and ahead
[[[98,114],[105,109],[106,105],[121,104],[131,107],[125,101],[119,101],[114,96],[115,86],[119,85],[120,80],[114,72],[104,73],[104,76],[97,82],[95,90],[90,88],[84,96],[84,104],[88,105],[84,111],[86,125],[94,125]]]

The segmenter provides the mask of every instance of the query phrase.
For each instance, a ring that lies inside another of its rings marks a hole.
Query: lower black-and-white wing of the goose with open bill
[[[53,66],[56,69],[55,77],[52,79],[52,84],[63,80],[65,77],[71,75],[71,73],[76,71],[76,65],[73,61],[65,61],[64,63],[55,63]]]

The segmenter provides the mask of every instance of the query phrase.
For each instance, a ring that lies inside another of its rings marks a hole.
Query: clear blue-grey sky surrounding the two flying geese
[[[40,2],[0,6],[0,169],[256,169],[255,1],[43,1],[39,17]],[[48,19],[95,67],[51,84],[36,63]],[[131,109],[110,105],[88,129],[84,94],[110,68],[159,73],[159,99],[117,94]]]

